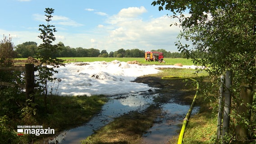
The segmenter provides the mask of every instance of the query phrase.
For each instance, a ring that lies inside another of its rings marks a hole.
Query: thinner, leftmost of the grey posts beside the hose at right
[[[220,86],[219,86],[219,112],[218,112],[217,139],[220,139],[220,135],[221,135],[221,123],[222,123],[222,112],[223,112],[223,85],[224,85],[224,75],[221,75]]]

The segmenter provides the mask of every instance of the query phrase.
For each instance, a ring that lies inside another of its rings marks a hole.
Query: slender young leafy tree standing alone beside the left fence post
[[[54,9],[46,8],[45,13],[47,25],[39,25],[39,31],[41,31],[41,33],[38,37],[43,41],[43,43],[38,47],[39,53],[37,58],[40,59],[41,63],[37,69],[39,72],[39,82],[43,88],[44,103],[46,106],[46,96],[48,94],[47,83],[48,81],[55,81],[57,79],[56,77],[53,77],[54,73],[58,72],[54,68],[64,66],[64,64],[61,63],[60,59],[53,56],[58,50],[58,45],[52,45],[52,42],[55,41],[55,26],[49,24],[53,17],[52,14],[54,13]]]

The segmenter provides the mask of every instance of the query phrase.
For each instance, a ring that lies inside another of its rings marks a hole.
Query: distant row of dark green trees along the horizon
[[[39,51],[37,43],[33,41],[24,42],[23,44],[17,45],[14,47],[15,57],[16,58],[28,58],[35,57]],[[187,58],[185,52],[169,52],[165,49],[151,49],[150,51],[159,51],[162,52],[165,58]],[[65,46],[63,42],[58,43],[58,50],[54,54],[54,57],[131,57],[131,58],[141,58],[145,56],[145,50],[140,49],[119,49],[117,51],[110,51],[108,53],[106,50],[99,49],[84,49],[82,47],[71,48],[70,46]],[[196,58],[204,58],[207,53],[196,52],[194,51],[194,56]]]

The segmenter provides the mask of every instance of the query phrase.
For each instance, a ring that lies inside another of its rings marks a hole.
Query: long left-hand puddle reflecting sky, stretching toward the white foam
[[[98,130],[113,121],[114,117],[119,117],[133,110],[143,111],[153,102],[154,95],[148,96],[148,94],[148,92],[141,92],[112,96],[97,116],[83,126],[62,132],[54,139],[49,140],[48,144],[55,144],[56,142],[58,144],[80,144],[82,139],[92,135],[94,130]]]

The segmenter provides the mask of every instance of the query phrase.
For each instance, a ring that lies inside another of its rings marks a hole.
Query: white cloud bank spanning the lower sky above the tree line
[[[68,17],[54,15],[52,24],[57,29],[55,43],[62,41],[64,45],[72,48],[95,48],[108,52],[121,48],[143,50],[163,48],[167,51],[177,51],[174,42],[177,41],[176,37],[181,29],[175,26],[169,27],[174,19],[166,16],[159,18],[140,17],[146,11],[144,7],[121,9],[119,13],[105,17],[105,22],[95,24],[95,27],[90,30],[82,29],[82,27],[79,27],[82,24]],[[33,16],[35,20],[45,22],[44,15],[34,14]],[[79,32],[67,32],[74,29]],[[3,34],[13,36],[14,45],[26,41],[42,43],[37,37],[40,34],[38,28],[24,28],[22,31],[0,29],[0,36],[3,36]]]

